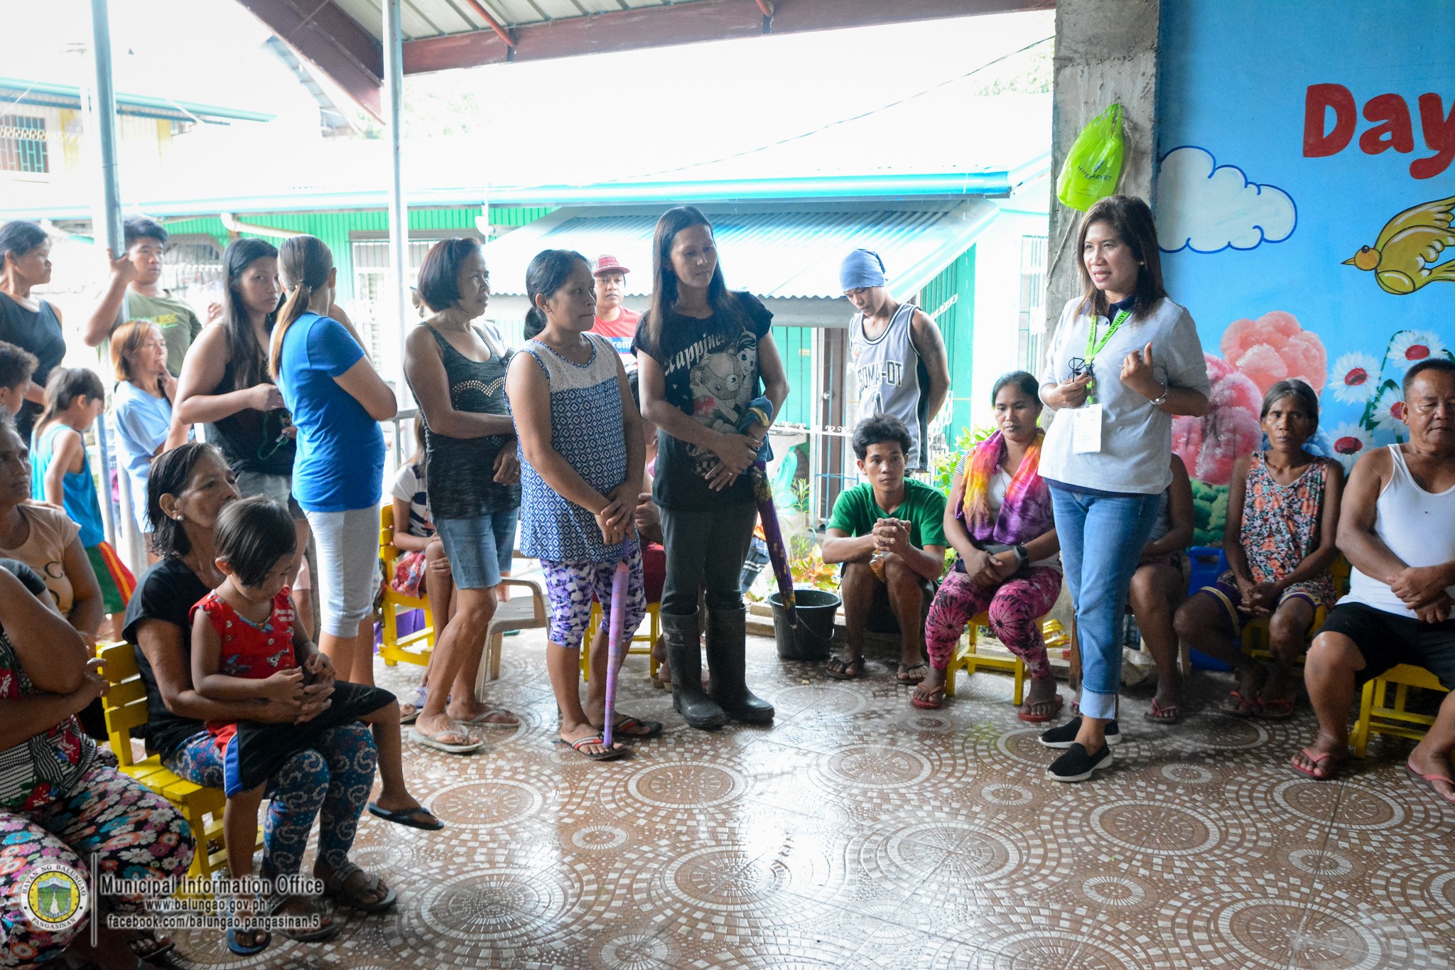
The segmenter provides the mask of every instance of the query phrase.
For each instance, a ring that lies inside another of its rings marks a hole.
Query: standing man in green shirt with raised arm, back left
[[[111,282],[86,320],[86,346],[102,346],[121,324],[146,320],[162,330],[162,339],[167,342],[167,371],[178,377],[182,372],[182,358],[202,333],[202,321],[192,313],[192,307],[162,288],[167,231],[153,220],[137,217],[127,220],[122,236],[125,253],[118,257],[106,250],[111,257]],[[215,313],[221,316],[221,307]],[[105,346],[102,358],[111,361],[111,352]]]

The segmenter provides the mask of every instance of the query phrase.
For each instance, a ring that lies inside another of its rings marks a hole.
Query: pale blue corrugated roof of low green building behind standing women
[[[615,256],[631,273],[629,295],[652,288],[652,234],[661,209],[611,215],[560,211],[486,244],[490,288],[525,292],[525,268],[543,249],[575,249],[588,259]],[[728,285],[760,297],[838,298],[838,265],[857,247],[873,249],[899,292],[912,292],[963,253],[998,212],[973,199],[954,207],[713,212],[713,233]]]

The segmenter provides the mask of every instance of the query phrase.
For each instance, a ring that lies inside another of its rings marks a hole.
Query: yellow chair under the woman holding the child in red
[[[137,654],[129,643],[99,647],[102,675],[111,689],[100,700],[106,714],[106,736],[116,755],[119,771],[135,778],[151,791],[175,804],[192,826],[196,854],[188,875],[211,878],[212,873],[227,874],[227,848],[223,843],[223,806],[227,798],[221,788],[204,788],[172,774],[157,755],[137,761],[131,749],[131,730],[147,723],[147,689],[137,669]],[[262,829],[258,830],[262,845]]]

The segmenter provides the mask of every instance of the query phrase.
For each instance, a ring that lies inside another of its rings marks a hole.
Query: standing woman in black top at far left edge
[[[31,425],[45,404],[45,378],[65,358],[61,311],[32,286],[51,282],[51,239],[35,223],[16,220],[0,225],[0,340],[35,355],[39,364],[25,390],[25,406],[15,423],[20,441],[31,444]]]

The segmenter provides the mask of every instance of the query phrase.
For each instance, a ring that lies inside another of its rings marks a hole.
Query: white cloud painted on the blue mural
[[[1157,176],[1157,239],[1163,252],[1221,253],[1282,243],[1298,208],[1288,192],[1251,182],[1243,169],[1219,166],[1203,148],[1173,148]]]

